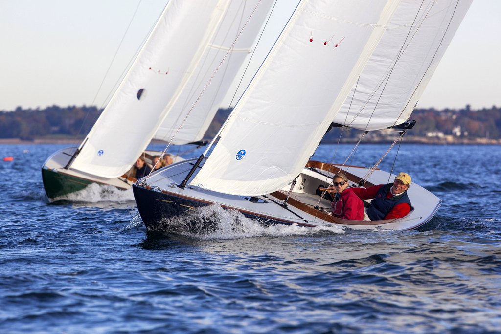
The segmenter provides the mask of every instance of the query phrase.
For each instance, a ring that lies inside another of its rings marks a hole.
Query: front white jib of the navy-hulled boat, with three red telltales
[[[397,5],[301,2],[191,184],[261,195],[299,175]]]

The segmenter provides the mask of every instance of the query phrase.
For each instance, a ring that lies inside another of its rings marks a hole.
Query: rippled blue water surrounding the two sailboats
[[[501,331],[501,147],[400,148],[395,172],[443,199],[418,231],[266,228],[207,207],[190,219],[210,217],[214,231],[148,233],[132,192],[48,203],[40,167],[63,146],[0,145],[14,157],[0,160],[0,332]]]

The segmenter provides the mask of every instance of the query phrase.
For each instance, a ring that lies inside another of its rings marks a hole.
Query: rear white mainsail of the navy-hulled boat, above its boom
[[[472,0],[402,0],[335,123],[376,130],[405,122]]]

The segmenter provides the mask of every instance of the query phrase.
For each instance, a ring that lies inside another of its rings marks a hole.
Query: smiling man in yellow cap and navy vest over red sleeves
[[[367,209],[370,220],[402,218],[413,210],[407,196],[411,182],[409,174],[399,173],[393,183],[369,188],[353,188],[353,192],[360,199],[374,199]]]

